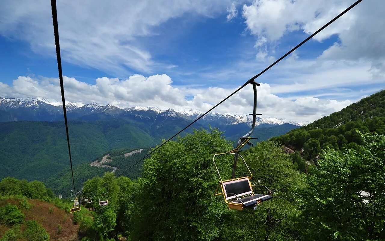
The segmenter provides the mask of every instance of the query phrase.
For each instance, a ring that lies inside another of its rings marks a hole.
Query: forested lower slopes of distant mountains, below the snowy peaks
[[[183,118],[158,119],[154,125],[138,116],[98,121],[69,121],[72,160],[75,165],[91,162],[117,148],[148,148],[169,138],[189,124]],[[192,127],[200,128],[200,124]],[[186,132],[191,132],[192,127]],[[282,135],[298,126],[257,126],[254,136],[261,140]],[[250,127],[243,123],[223,126],[228,140],[237,141]],[[182,133],[182,136],[184,133]],[[68,150],[62,121],[13,121],[0,123],[0,178],[8,175],[27,180],[47,179],[68,168]],[[89,170],[89,167],[87,167]],[[47,183],[47,182],[46,182]],[[51,186],[53,187],[53,186]],[[56,190],[56,189],[55,189]]]

